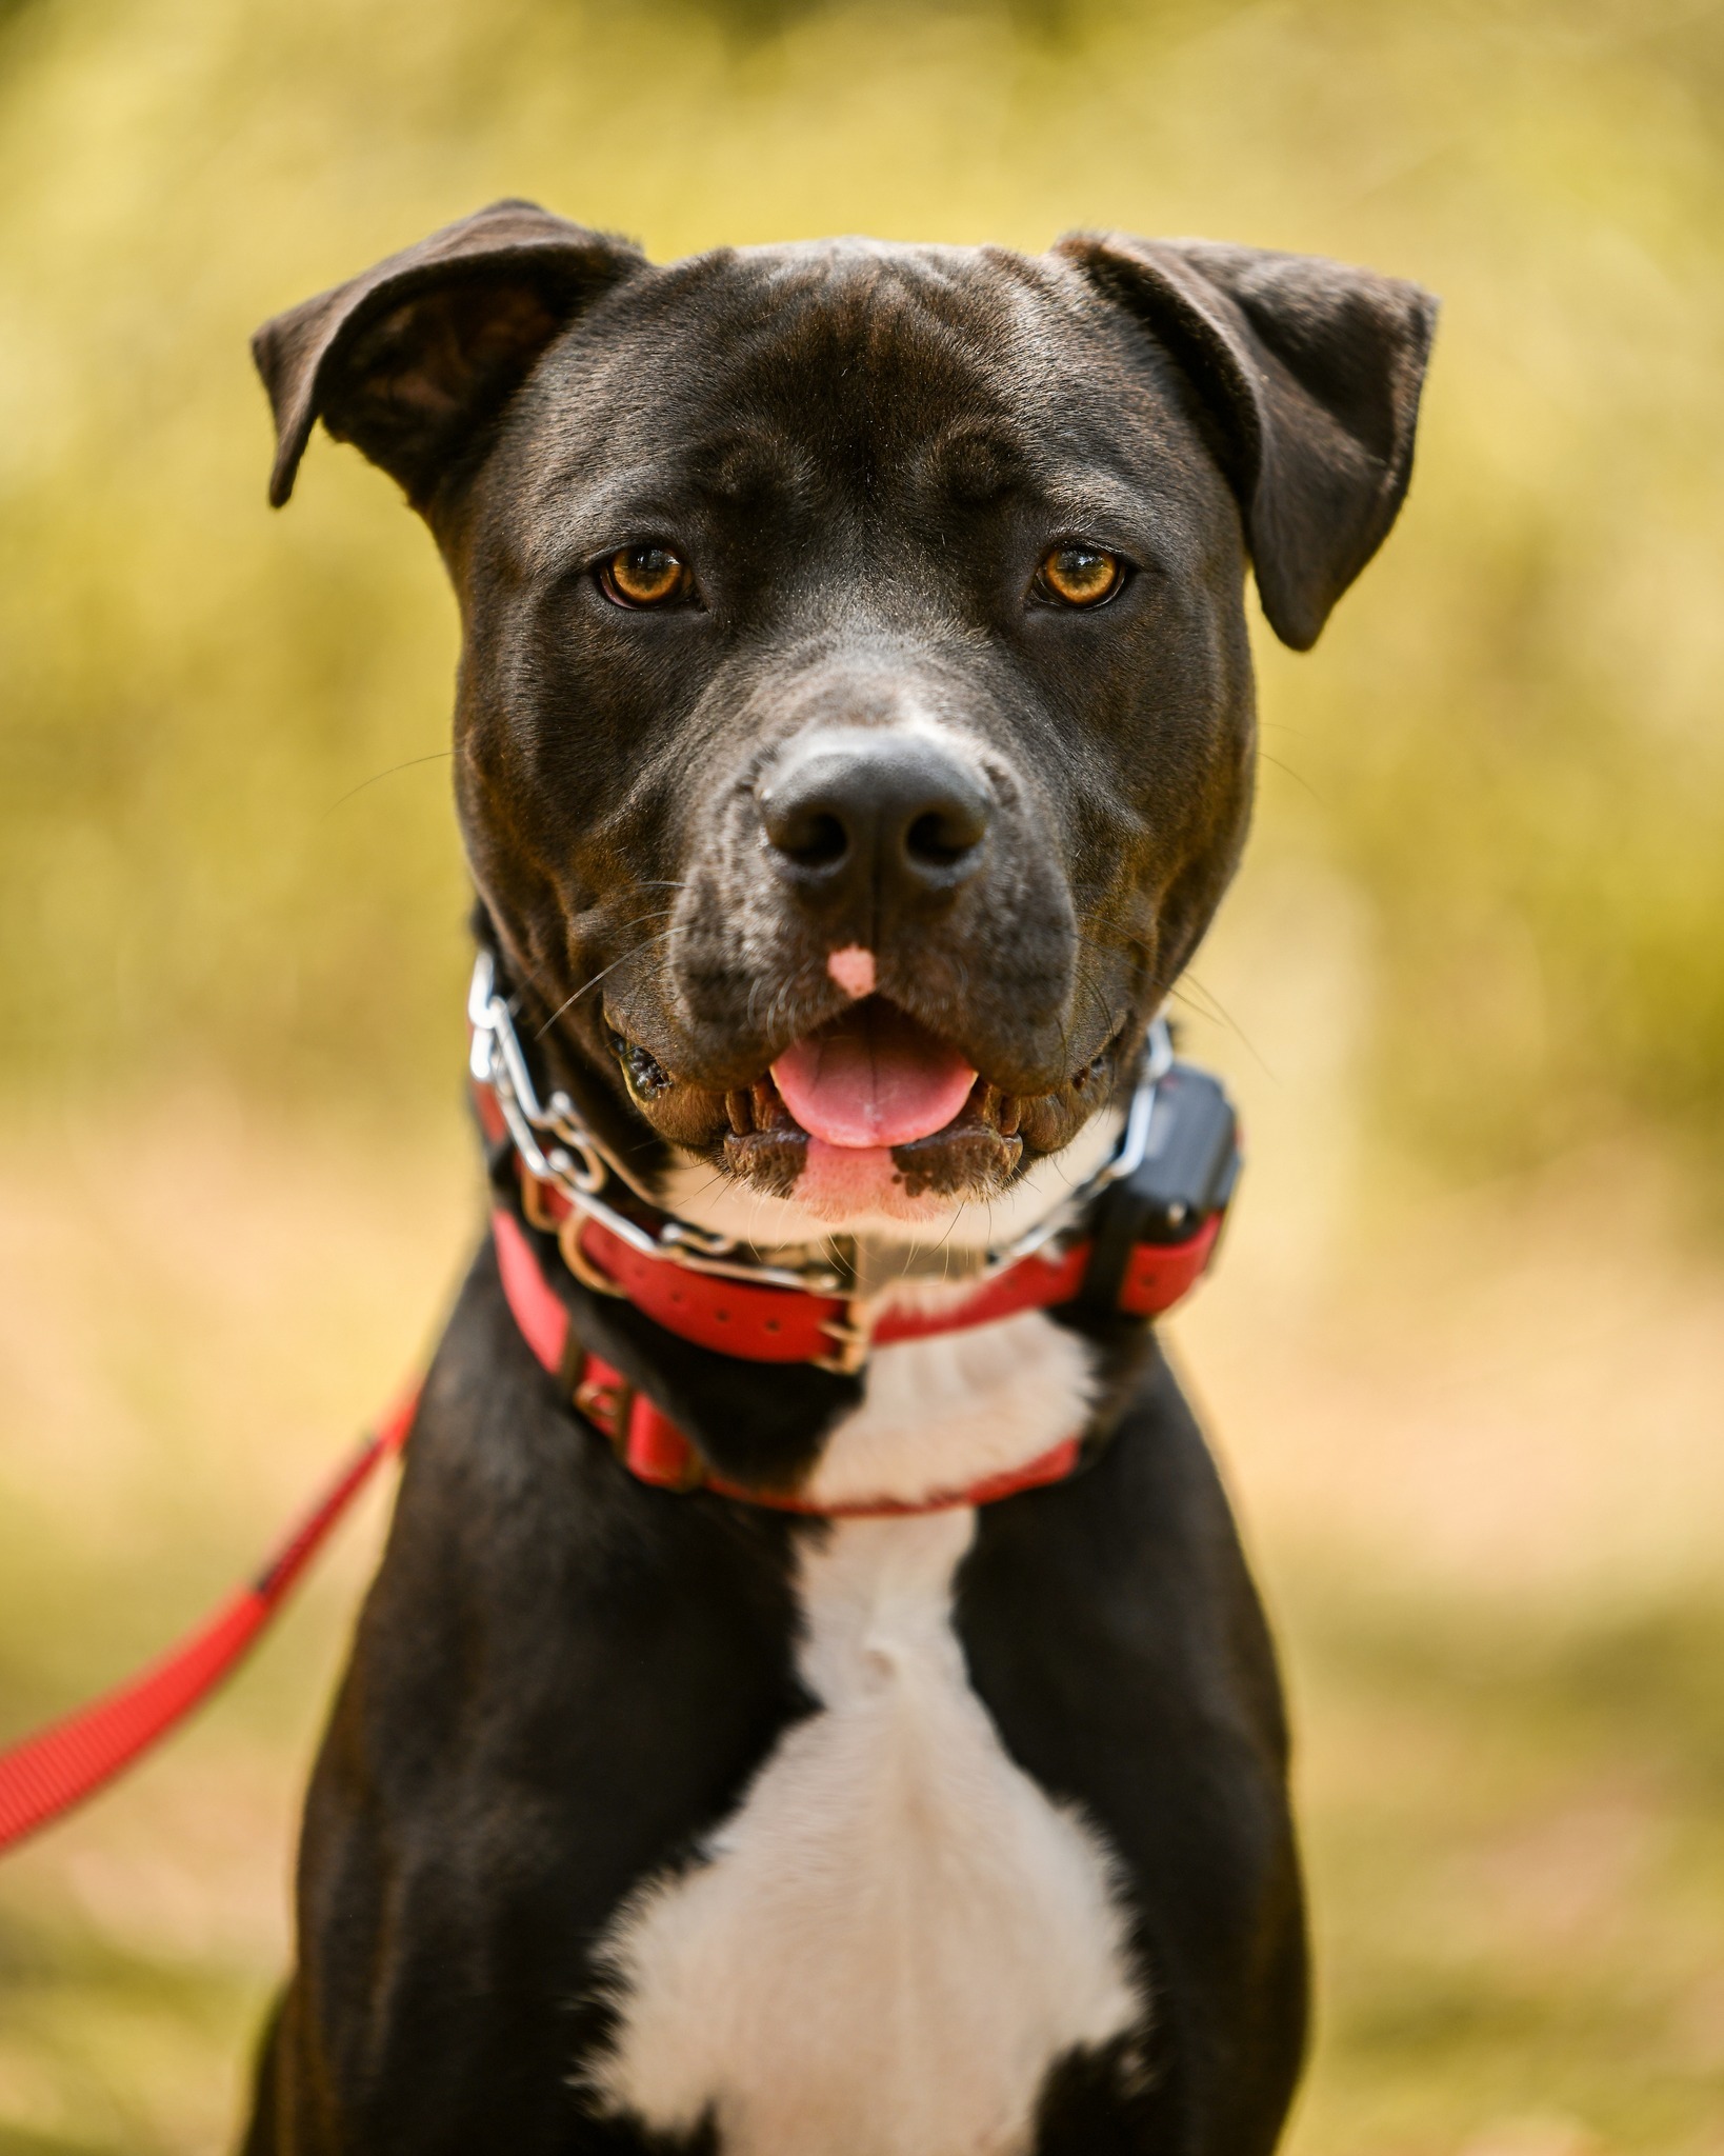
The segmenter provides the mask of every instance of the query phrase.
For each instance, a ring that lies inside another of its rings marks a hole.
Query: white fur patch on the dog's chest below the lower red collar
[[[791,1729],[606,1962],[601,2102],[724,2156],[1015,2156],[1043,2076],[1138,2022],[1110,1856],[1000,1746],[953,1632],[974,1511],[808,1548]]]

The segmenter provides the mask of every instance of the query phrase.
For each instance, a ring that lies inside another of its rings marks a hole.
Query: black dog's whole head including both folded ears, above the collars
[[[444,552],[528,1033],[636,1173],[791,1240],[998,1201],[1129,1078],[1246,830],[1246,565],[1308,647],[1433,313],[1116,235],[659,270],[498,203],[256,358],[272,498],[321,416]]]

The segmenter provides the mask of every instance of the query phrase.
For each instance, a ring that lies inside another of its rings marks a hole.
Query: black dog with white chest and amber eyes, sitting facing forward
[[[261,332],[272,498],[321,416],[459,593],[498,1229],[256,2156],[1274,2145],[1269,1641],[1155,1300],[1078,1291],[1084,1222],[1021,1250],[1151,1143],[1250,806],[1246,563],[1308,647],[1431,321],[1243,248],[659,270],[500,203]]]

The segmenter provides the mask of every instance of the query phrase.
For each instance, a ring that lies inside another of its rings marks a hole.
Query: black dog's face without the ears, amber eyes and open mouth
[[[453,520],[511,968],[776,1194],[912,1205],[1060,1149],[1233,862],[1239,513],[1082,298],[862,246],[623,285]]]

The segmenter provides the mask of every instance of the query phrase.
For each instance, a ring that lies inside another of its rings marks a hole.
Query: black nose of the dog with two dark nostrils
[[[983,865],[987,789],[920,733],[806,733],[767,774],[759,802],[774,869],[823,908],[929,906]]]

